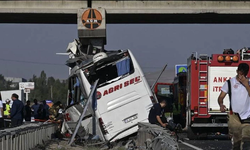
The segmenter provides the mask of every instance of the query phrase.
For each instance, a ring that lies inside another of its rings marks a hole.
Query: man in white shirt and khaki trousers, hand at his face
[[[229,80],[230,84],[228,81],[224,83],[218,97],[221,112],[226,111],[226,106],[223,104],[226,94],[231,97],[228,129],[233,138],[233,150],[250,150],[250,86],[247,78],[248,71],[248,64],[239,64],[236,77]]]

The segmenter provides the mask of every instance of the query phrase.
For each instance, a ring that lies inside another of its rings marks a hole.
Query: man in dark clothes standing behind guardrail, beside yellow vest
[[[20,126],[23,123],[23,102],[18,100],[17,94],[12,94],[11,99],[13,100],[13,104],[10,110],[11,117],[11,127]]]

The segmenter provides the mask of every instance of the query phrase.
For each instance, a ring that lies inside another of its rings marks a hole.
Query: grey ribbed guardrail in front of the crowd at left
[[[24,124],[15,128],[0,131],[1,150],[27,150],[34,148],[43,141],[51,139],[56,131],[56,124],[37,123]]]

